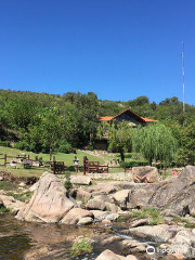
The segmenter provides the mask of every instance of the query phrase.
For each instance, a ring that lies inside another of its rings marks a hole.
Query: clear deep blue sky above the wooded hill
[[[194,0],[0,0],[0,89],[195,105]]]

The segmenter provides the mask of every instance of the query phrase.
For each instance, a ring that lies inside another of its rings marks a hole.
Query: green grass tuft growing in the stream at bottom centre
[[[86,253],[91,253],[92,251],[93,251],[93,247],[87,239],[82,239],[80,242],[74,242],[74,244],[69,249],[69,253],[72,258],[86,255]]]

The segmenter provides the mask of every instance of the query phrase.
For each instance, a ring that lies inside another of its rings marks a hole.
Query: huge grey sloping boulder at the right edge
[[[135,184],[129,191],[128,208],[156,207],[179,216],[195,214],[194,197],[195,167],[187,166],[169,181]]]

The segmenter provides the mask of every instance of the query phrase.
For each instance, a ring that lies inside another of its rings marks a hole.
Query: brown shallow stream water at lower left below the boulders
[[[90,236],[93,229],[60,224],[26,223],[10,214],[0,214],[0,260],[21,260],[36,246],[61,244],[78,236]],[[80,259],[84,259],[83,257]]]

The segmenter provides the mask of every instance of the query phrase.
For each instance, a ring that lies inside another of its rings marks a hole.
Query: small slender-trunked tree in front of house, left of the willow
[[[131,130],[132,128],[126,121],[107,127],[108,151],[120,153],[120,158],[125,160],[125,153],[131,151]]]

